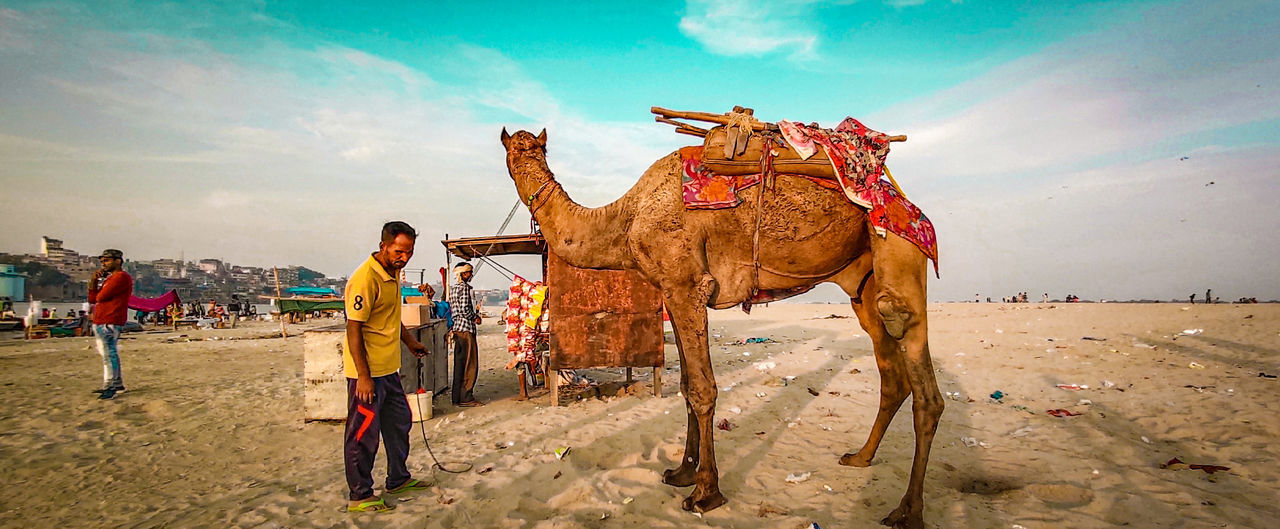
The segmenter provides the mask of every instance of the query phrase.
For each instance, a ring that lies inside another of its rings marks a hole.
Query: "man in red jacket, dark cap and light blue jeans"
[[[133,295],[133,278],[120,266],[124,265],[124,252],[102,250],[102,269],[93,273],[88,283],[90,311],[93,313],[93,336],[97,337],[97,354],[102,355],[102,389],[96,389],[97,398],[111,400],[124,392],[120,377],[120,354],[115,343],[120,339],[124,321],[129,319],[129,296]]]

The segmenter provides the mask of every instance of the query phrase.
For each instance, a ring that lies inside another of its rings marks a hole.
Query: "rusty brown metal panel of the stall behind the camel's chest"
[[[663,364],[662,291],[631,270],[547,260],[552,369]]]

